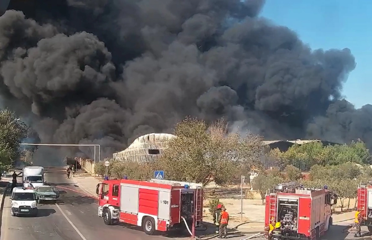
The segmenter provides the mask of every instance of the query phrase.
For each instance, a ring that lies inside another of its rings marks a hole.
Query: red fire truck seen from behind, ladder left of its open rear
[[[304,188],[297,182],[276,185],[266,192],[265,225],[282,223],[280,239],[319,239],[332,225],[331,205],[337,196],[327,186]]]

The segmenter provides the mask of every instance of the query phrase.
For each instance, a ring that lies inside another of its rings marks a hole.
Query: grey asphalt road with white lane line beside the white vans
[[[10,215],[10,199],[7,196],[4,201],[0,240],[189,239],[189,237],[148,236],[140,227],[125,224],[106,226],[103,219],[97,215],[97,200],[82,194],[81,192],[84,191],[76,185],[77,183],[73,179],[65,177],[64,169],[46,168],[45,170],[47,182],[61,187],[59,188],[61,200],[57,204],[38,205],[39,214],[37,217],[12,217]],[[355,239],[353,233],[342,233],[343,228],[345,226],[332,226],[331,231],[323,239]],[[362,231],[368,232],[364,227]],[[240,240],[247,237],[235,236],[230,236],[229,239]],[[357,239],[371,240],[371,236]]]

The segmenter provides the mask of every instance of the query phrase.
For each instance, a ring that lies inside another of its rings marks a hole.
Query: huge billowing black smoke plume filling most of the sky
[[[372,146],[372,106],[342,100],[350,50],[310,49],[259,17],[263,4],[11,0],[23,12],[0,17],[1,103],[42,142],[97,143],[103,156],[186,115]]]

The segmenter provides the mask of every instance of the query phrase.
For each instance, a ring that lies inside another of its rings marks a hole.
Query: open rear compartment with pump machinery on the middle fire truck
[[[298,200],[278,199],[278,221],[284,228],[286,236],[297,236],[298,230]]]

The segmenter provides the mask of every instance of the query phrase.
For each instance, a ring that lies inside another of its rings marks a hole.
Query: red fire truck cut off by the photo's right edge
[[[357,205],[358,209],[360,209],[360,214],[364,218],[360,225],[367,226],[368,230],[372,232],[372,181],[359,184]]]

